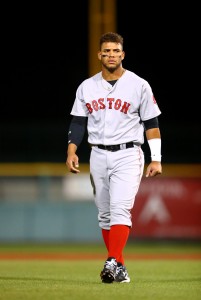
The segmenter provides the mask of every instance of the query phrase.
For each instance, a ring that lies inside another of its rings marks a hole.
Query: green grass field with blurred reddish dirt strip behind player
[[[201,299],[200,243],[135,242],[124,253],[131,282],[103,284],[102,244],[0,244],[0,299]],[[23,258],[26,254],[35,256]]]

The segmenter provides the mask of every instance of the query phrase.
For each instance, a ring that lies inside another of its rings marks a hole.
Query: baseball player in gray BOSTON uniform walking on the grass
[[[151,153],[146,177],[162,173],[161,111],[149,83],[123,68],[124,57],[123,37],[113,32],[103,34],[98,51],[101,72],[77,88],[68,132],[66,165],[70,172],[79,173],[76,151],[85,129],[88,131],[90,178],[107,248],[100,273],[103,283],[130,282],[123,250],[144,170],[144,136]]]

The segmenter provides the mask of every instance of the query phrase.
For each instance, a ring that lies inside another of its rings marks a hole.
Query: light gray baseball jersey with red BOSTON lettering
[[[84,80],[71,111],[71,115],[88,117],[88,142],[94,145],[143,144],[142,122],[160,114],[149,83],[128,70],[113,87],[102,72]]]

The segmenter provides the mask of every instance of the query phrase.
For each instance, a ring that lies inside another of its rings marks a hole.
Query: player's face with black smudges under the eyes
[[[122,63],[125,53],[119,43],[103,43],[98,58],[109,71],[116,70]]]

